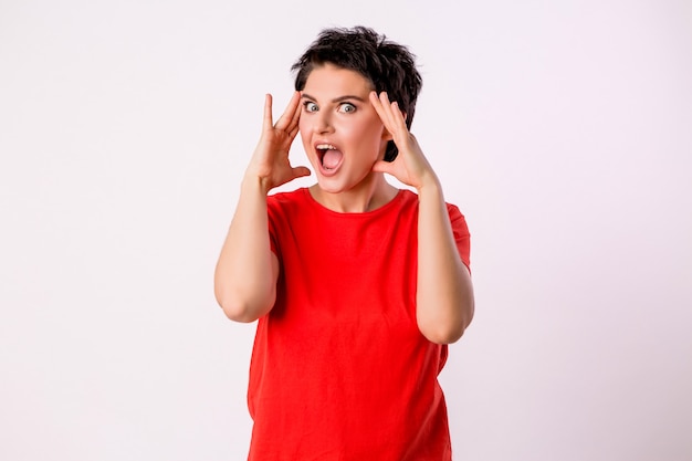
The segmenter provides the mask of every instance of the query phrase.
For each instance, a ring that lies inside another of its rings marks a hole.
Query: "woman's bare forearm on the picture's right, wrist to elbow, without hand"
[[[431,178],[418,195],[418,326],[431,342],[449,344],[473,317],[471,275],[459,256],[438,179]]]

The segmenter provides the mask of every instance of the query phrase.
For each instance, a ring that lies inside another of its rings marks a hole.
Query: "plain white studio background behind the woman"
[[[354,24],[472,232],[455,459],[692,459],[689,0],[0,0],[0,459],[244,459],[213,266],[264,93]]]

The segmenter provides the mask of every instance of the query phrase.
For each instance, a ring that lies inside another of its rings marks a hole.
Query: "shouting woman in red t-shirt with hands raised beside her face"
[[[329,29],[294,64],[216,271],[234,321],[259,319],[250,460],[450,460],[438,374],[473,316],[469,231],[409,132],[420,74],[370,29]],[[316,184],[289,149],[301,134]],[[390,174],[410,186],[398,189]]]

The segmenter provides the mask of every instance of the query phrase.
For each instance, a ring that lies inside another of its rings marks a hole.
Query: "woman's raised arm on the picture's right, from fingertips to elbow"
[[[457,250],[440,181],[397,103],[390,103],[386,93],[379,98],[371,93],[370,102],[399,148],[395,161],[378,161],[373,169],[418,191],[418,328],[433,343],[454,343],[473,317],[473,286]]]

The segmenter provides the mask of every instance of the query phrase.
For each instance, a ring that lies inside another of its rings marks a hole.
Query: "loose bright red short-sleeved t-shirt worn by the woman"
[[[416,323],[418,196],[338,213],[298,189],[268,208],[281,272],[252,352],[249,460],[450,460],[447,346]],[[468,265],[465,220],[448,210]]]

